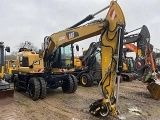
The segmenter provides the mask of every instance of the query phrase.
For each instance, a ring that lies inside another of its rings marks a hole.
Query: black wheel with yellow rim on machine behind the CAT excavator
[[[83,73],[80,76],[80,83],[84,87],[91,87],[93,85],[93,77],[91,77],[88,73]]]

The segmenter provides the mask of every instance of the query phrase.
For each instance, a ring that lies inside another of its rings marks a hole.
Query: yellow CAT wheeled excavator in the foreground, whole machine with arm
[[[108,13],[104,19],[82,25],[108,8]],[[18,66],[20,67],[17,68],[19,74],[15,76],[15,88],[17,90],[23,88],[28,91],[33,100],[44,98],[47,87],[62,87],[63,92],[75,92],[77,79],[74,75],[66,73],[67,70],[74,68],[72,44],[100,35],[102,80],[99,85],[103,98],[91,104],[89,111],[93,115],[108,116],[109,113],[112,113],[116,116],[118,114],[119,82],[117,82],[116,96],[114,83],[117,76],[118,81],[120,81],[122,71],[124,29],[125,18],[123,12],[116,1],[111,1],[110,5],[104,9],[87,16],[75,25],[45,37],[44,50],[39,51],[41,59],[38,58],[38,54],[37,57],[30,57],[31,50],[21,49],[18,54],[20,63]],[[40,64],[42,66],[39,66]],[[41,73],[38,73],[41,68]]]

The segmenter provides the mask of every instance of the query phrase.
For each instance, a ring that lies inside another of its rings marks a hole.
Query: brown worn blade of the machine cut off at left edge
[[[10,89],[9,83],[0,81],[0,105],[9,104],[14,101],[14,90]]]

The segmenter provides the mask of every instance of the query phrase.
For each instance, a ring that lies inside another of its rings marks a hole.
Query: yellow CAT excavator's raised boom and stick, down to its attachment
[[[44,62],[47,62],[55,54],[58,47],[100,35],[102,52],[102,80],[100,86],[103,98],[91,104],[90,113],[107,116],[112,112],[116,116],[118,95],[115,97],[114,83],[116,76],[120,76],[122,71],[125,18],[116,1],[111,1],[106,8],[109,8],[109,11],[104,20],[94,21],[83,26],[76,24],[47,37],[44,44],[43,58]]]

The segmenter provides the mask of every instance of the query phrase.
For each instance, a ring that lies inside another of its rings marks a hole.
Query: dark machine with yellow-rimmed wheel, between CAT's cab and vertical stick
[[[92,42],[87,50],[83,50],[82,56],[74,58],[75,70],[72,74],[77,77],[82,86],[90,87],[94,81],[99,83],[102,78],[100,47],[100,42]]]

